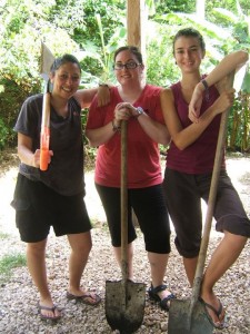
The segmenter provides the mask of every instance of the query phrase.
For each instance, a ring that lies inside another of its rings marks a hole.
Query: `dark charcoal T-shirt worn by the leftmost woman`
[[[32,138],[33,151],[40,148],[43,95],[29,97],[22,105],[14,130]],[[54,191],[72,196],[82,193],[83,141],[81,107],[74,98],[68,102],[69,116],[64,119],[50,106],[50,149],[53,157],[48,170],[41,171],[20,164],[19,171],[32,180],[40,180]]]

